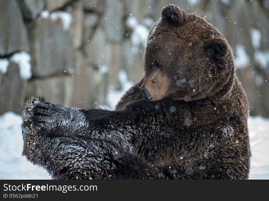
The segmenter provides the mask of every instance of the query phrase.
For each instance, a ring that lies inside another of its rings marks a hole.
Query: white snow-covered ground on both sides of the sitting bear
[[[0,179],[50,179],[45,170],[32,165],[22,153],[21,116],[0,116]],[[269,119],[249,117],[252,151],[250,179],[269,179]]]

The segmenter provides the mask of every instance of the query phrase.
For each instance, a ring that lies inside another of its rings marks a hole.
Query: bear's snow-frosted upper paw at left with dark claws
[[[42,97],[32,97],[26,107],[32,127],[48,136],[74,136],[77,132],[83,135],[81,132],[86,132],[89,126],[79,108],[52,104]]]

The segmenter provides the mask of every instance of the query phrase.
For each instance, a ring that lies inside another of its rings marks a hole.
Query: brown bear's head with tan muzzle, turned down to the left
[[[226,39],[206,20],[169,5],[149,32],[144,55],[144,98],[191,100],[221,95],[234,82]]]

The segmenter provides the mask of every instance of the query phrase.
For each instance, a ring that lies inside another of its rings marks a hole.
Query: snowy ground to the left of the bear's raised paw
[[[0,116],[0,179],[50,179],[21,155],[22,149],[21,116],[6,112]]]

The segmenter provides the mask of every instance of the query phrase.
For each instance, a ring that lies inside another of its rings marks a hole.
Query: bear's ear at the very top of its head
[[[183,24],[183,14],[179,7],[175,5],[168,5],[163,8],[162,20],[173,26]]]

